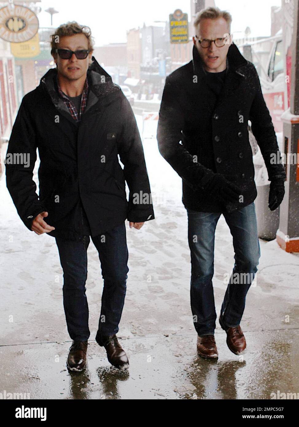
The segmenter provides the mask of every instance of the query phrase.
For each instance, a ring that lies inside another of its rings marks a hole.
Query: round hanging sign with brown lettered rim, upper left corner
[[[0,38],[11,43],[32,39],[38,31],[38,17],[25,6],[9,5],[0,9]]]

